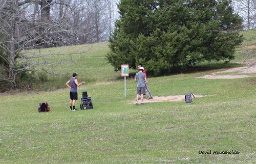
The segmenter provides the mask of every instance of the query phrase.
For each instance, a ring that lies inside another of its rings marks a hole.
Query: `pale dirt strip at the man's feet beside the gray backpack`
[[[198,97],[205,97],[207,95],[195,95],[196,98]],[[193,98],[194,99],[194,98]],[[170,95],[170,96],[154,96],[153,100],[147,100],[144,98],[143,102],[148,103],[148,102],[163,102],[163,101],[184,101],[185,100],[185,95]],[[139,100],[139,103],[141,100]],[[134,101],[136,103],[136,100]]]

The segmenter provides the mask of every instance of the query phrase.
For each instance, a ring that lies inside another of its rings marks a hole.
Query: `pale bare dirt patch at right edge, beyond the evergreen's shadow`
[[[254,75],[218,75],[218,73],[256,73],[256,61],[244,62],[246,64],[244,67],[230,68],[227,70],[215,72],[209,75],[197,77],[197,78],[208,78],[208,79],[232,79],[232,78],[245,78],[245,77],[255,77]]]

